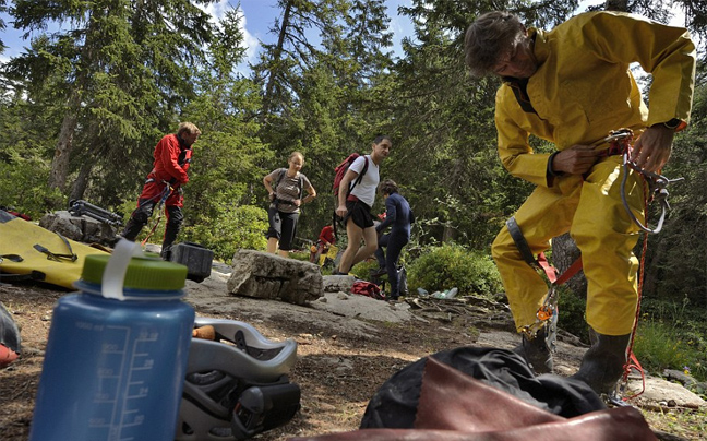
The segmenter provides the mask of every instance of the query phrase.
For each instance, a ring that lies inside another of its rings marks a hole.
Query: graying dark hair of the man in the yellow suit
[[[489,74],[499,59],[525,34],[520,19],[511,12],[491,11],[479,15],[464,38],[466,63],[475,76]]]

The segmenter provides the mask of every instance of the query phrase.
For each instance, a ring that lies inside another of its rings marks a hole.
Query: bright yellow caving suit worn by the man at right
[[[515,218],[534,254],[570,231],[587,277],[588,324],[600,334],[625,335],[632,331],[638,298],[638,262],[632,250],[639,229],[621,201],[622,157],[598,162],[584,178],[553,176],[550,155],[534,153],[528,136],[553,142],[562,151],[592,144],[620,128],[632,129],[634,140],[646,127],[673,118],[684,128],[692,106],[695,48],[683,28],[613,12],[580,14],[551,32],[528,31],[539,63],[527,82],[535,112],[523,110],[510,82],[498,91],[495,103],[504,167],[538,186]],[[654,75],[650,111],[628,69],[632,62]],[[635,172],[628,176],[626,196],[636,217],[644,219],[643,181]],[[506,227],[492,253],[520,331],[536,321],[548,286],[523,260]]]

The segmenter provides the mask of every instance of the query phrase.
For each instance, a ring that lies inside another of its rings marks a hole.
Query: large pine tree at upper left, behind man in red
[[[64,24],[35,38],[7,75],[63,115],[49,187],[67,191],[72,164],[81,165],[72,196],[83,194],[94,167],[110,175],[128,159],[121,171],[134,169],[130,159],[144,162],[140,152],[154,146],[147,140],[172,130],[194,94],[190,70],[203,63],[212,37],[208,15],[187,0],[17,0],[11,15],[25,31]]]

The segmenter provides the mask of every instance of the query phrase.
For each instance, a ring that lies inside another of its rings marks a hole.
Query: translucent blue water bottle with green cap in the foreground
[[[31,441],[171,441],[194,310],[187,266],[118,242],[53,309]]]

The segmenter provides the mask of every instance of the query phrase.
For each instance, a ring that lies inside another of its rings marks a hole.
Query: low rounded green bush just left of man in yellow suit
[[[411,291],[432,293],[457,287],[460,295],[492,296],[501,290],[501,277],[488,254],[446,243],[431,247],[407,267]]]

